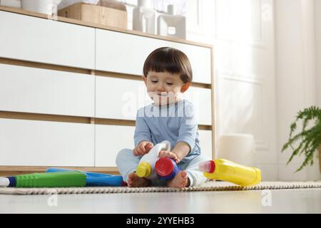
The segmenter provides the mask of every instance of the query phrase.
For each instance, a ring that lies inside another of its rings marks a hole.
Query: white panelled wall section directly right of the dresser
[[[277,180],[273,4],[215,0],[214,11],[217,139],[253,135],[265,181]]]

